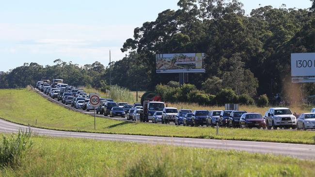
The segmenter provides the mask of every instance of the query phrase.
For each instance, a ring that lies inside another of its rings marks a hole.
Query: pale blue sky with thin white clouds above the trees
[[[309,8],[310,0],[240,0],[246,14],[260,6]],[[126,56],[133,29],[176,10],[178,0],[0,0],[0,71],[55,59],[84,65]]]

